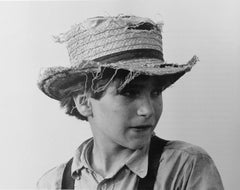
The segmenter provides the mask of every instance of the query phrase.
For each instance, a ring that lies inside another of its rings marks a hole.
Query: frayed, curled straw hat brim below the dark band
[[[67,89],[74,85],[76,90],[84,92],[89,73],[98,73],[102,68],[124,69],[139,75],[166,76],[165,88],[176,82],[186,72],[190,71],[198,61],[197,56],[187,64],[169,64],[159,59],[131,59],[115,63],[99,64],[86,61],[85,66],[50,67],[43,69],[38,81],[38,87],[49,97],[61,100],[69,95]],[[71,88],[73,90],[73,88]]]

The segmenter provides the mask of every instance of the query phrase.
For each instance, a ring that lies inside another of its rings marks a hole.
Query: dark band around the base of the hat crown
[[[164,61],[162,52],[155,49],[127,50],[127,51],[105,55],[97,59],[94,59],[94,61],[102,62],[102,63],[115,63],[118,61],[138,59],[138,58],[139,59],[140,58],[156,58],[156,59],[160,59],[161,61]]]

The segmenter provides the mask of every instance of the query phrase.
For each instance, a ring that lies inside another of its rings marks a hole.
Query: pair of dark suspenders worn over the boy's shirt
[[[151,190],[157,176],[158,167],[160,164],[160,157],[162,155],[164,146],[168,141],[153,136],[151,139],[149,159],[148,159],[148,173],[145,178],[140,178],[138,183],[138,190]],[[71,158],[64,169],[62,178],[62,189],[74,189],[74,179],[71,177],[71,166],[73,158]]]

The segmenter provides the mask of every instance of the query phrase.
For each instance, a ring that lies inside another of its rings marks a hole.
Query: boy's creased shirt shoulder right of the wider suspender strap
[[[183,141],[169,141],[164,147],[157,181],[164,187],[175,184],[179,188],[223,189],[209,154],[203,148]]]

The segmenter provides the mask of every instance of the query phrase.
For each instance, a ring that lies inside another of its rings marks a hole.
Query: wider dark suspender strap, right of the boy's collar
[[[148,173],[145,178],[140,178],[138,190],[153,189],[160,164],[160,157],[167,142],[157,136],[152,137],[149,149]]]

